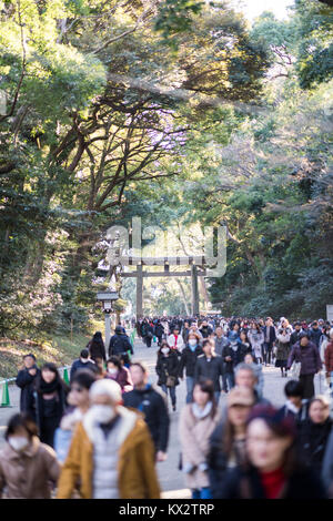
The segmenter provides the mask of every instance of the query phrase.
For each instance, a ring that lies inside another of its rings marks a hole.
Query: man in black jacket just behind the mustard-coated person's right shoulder
[[[134,389],[123,394],[123,405],[143,412],[155,446],[157,461],[164,461],[170,423],[165,399],[151,384],[148,384],[148,369],[143,364],[132,364],[130,372]]]

